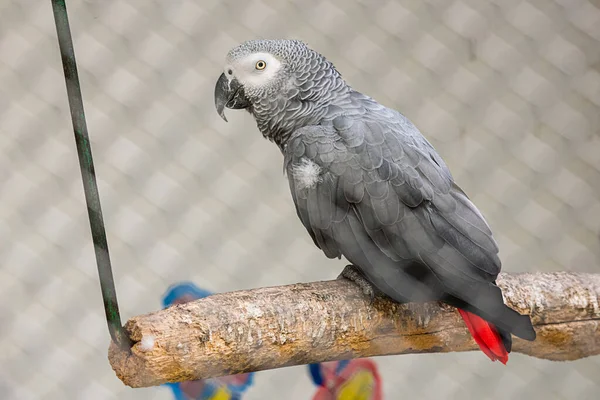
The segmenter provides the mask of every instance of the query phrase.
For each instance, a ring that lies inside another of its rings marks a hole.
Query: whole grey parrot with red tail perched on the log
[[[252,40],[229,51],[215,106],[246,109],[283,153],[298,217],[329,258],[371,296],[458,308],[492,360],[531,320],[504,304],[498,246],[444,160],[398,111],[354,90],[297,40]]]

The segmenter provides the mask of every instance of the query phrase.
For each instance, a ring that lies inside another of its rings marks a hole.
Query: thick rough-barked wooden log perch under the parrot
[[[563,361],[600,354],[600,274],[501,274],[497,282],[509,306],[532,316],[538,335],[514,337],[513,353]],[[478,348],[454,308],[369,304],[344,279],[215,294],[134,317],[125,329],[135,345],[127,352],[111,344],[109,360],[132,387]]]

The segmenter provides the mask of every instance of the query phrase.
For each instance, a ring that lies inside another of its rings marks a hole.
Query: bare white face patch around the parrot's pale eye
[[[268,86],[280,69],[281,62],[271,54],[254,53],[226,65],[225,75],[235,77],[247,88],[260,88]]]

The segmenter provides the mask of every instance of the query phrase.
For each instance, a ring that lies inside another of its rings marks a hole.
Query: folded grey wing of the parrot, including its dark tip
[[[521,316],[494,284],[498,246],[481,213],[406,117],[376,111],[301,128],[283,150],[297,214],[315,244],[329,258],[345,256],[396,301],[448,295],[527,336],[515,331]]]

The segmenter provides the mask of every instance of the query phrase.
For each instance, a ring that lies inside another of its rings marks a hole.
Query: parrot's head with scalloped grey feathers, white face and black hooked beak
[[[263,135],[277,140],[317,118],[345,86],[333,64],[301,41],[251,40],[227,54],[215,107],[225,121],[225,108],[246,109]]]

